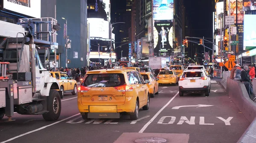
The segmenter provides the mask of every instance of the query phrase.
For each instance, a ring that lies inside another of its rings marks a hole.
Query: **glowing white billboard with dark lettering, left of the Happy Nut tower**
[[[103,18],[87,18],[87,21],[90,23],[90,37],[109,39],[108,21],[105,21]]]

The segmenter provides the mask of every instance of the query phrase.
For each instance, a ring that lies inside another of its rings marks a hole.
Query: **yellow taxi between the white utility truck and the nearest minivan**
[[[72,77],[67,75],[65,72],[51,71],[51,76],[56,78],[60,84],[61,98],[63,98],[64,93],[72,92],[73,95],[77,94],[77,83]]]

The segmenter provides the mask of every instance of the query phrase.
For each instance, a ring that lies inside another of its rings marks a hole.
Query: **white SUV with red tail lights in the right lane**
[[[185,70],[179,80],[179,94],[183,93],[205,93],[209,96],[211,79],[205,70]]]

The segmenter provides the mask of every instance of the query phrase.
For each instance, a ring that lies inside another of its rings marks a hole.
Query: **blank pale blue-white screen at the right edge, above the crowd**
[[[256,46],[256,15],[244,15],[244,48]]]

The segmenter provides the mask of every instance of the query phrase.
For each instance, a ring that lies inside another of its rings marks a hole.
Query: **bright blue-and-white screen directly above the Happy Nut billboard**
[[[173,0],[153,0],[153,20],[173,20]]]

